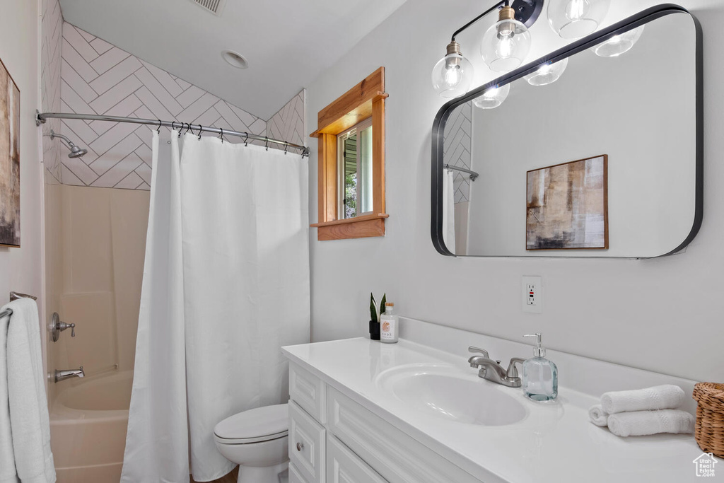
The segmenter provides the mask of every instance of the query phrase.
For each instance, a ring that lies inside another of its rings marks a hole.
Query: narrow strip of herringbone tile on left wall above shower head
[[[60,50],[63,43],[63,15],[58,0],[41,3],[41,105],[43,112],[60,110]],[[60,120],[50,119],[43,125],[43,133],[60,132]],[[60,182],[60,156],[62,146],[58,141],[43,138],[43,166],[46,182]]]

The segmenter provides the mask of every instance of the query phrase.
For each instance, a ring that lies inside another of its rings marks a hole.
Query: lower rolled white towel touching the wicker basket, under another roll
[[[694,416],[686,411],[633,411],[608,416],[608,429],[616,436],[645,436],[657,433],[693,433]]]

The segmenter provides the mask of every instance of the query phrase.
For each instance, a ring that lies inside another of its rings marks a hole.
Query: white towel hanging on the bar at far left
[[[4,339],[0,340],[4,342],[0,364],[5,365],[0,369],[7,374],[7,379],[0,378],[0,384],[7,381],[0,390],[0,405],[5,406],[7,397],[9,407],[9,413],[5,408],[0,411],[0,481],[54,483],[38,306],[30,298],[20,298],[4,308],[12,308],[13,313],[0,324],[0,339]],[[8,431],[12,452],[7,448]]]

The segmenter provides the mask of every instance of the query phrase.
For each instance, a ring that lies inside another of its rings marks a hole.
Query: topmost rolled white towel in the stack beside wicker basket
[[[601,396],[601,407],[612,415],[626,411],[675,409],[681,406],[685,397],[681,387],[667,384],[631,391],[605,392]]]

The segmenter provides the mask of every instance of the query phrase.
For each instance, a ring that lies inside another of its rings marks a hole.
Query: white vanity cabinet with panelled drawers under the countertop
[[[290,483],[480,483],[298,364],[290,364]]]

